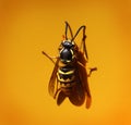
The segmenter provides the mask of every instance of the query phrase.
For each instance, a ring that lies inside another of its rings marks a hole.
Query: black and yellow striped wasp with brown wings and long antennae
[[[87,77],[91,76],[96,67],[90,68],[86,72],[86,63],[88,61],[86,45],[85,45],[85,29],[86,26],[82,25],[73,36],[72,29],[68,22],[66,22],[64,37],[58,50],[58,57],[50,57],[43,51],[53,64],[53,71],[49,80],[48,91],[49,95],[57,100],[60,105],[66,98],[74,105],[82,105],[86,100],[86,108],[91,105],[92,97],[90,92]],[[71,38],[68,38],[68,30]],[[82,30],[83,37],[80,47],[74,42],[78,34]],[[55,61],[56,59],[56,61]]]

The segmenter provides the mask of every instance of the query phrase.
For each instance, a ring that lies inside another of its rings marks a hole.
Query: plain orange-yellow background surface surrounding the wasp
[[[48,95],[64,21],[86,25],[90,110]],[[130,0],[0,0],[0,125],[131,125]]]

